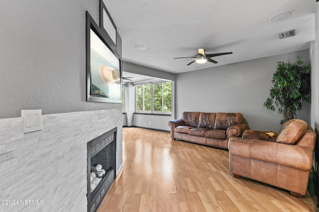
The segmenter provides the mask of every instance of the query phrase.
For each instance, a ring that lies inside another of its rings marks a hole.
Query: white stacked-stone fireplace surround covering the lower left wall
[[[87,211],[87,142],[115,127],[118,174],[121,108],[43,115],[27,134],[21,117],[0,119],[0,211]]]

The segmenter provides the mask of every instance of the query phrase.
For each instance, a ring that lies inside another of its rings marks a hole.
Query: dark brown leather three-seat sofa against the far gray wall
[[[241,113],[183,112],[182,118],[170,120],[170,138],[228,148],[228,139],[241,137],[248,125]]]

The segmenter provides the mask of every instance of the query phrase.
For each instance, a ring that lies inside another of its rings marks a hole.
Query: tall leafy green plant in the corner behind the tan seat
[[[273,74],[273,86],[264,107],[284,115],[285,120],[296,119],[296,111],[302,109],[302,101],[311,103],[310,65],[297,57],[294,64],[277,62],[277,71]]]

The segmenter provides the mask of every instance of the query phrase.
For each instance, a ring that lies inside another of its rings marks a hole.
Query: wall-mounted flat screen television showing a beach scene
[[[121,60],[107,44],[111,38],[86,16],[86,100],[122,103]]]

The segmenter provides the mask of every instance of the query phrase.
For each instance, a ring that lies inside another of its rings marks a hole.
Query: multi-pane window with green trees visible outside
[[[136,112],[170,113],[171,82],[157,82],[135,86]]]

